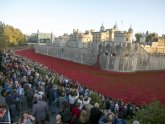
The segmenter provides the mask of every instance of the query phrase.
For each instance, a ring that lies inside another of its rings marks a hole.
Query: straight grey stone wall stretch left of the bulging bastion
[[[90,48],[71,48],[57,46],[36,45],[36,53],[53,56],[85,65],[94,65],[97,60],[97,52]]]

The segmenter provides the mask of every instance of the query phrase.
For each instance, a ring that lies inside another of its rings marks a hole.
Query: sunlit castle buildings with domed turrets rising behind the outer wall
[[[85,33],[82,33],[79,29],[73,29],[73,33],[70,35],[64,33],[63,36],[55,38],[54,44],[56,46],[87,48],[89,42],[132,43],[133,29],[130,27],[127,32],[119,31],[116,23],[112,29],[105,29],[102,24],[100,31],[86,30]]]

